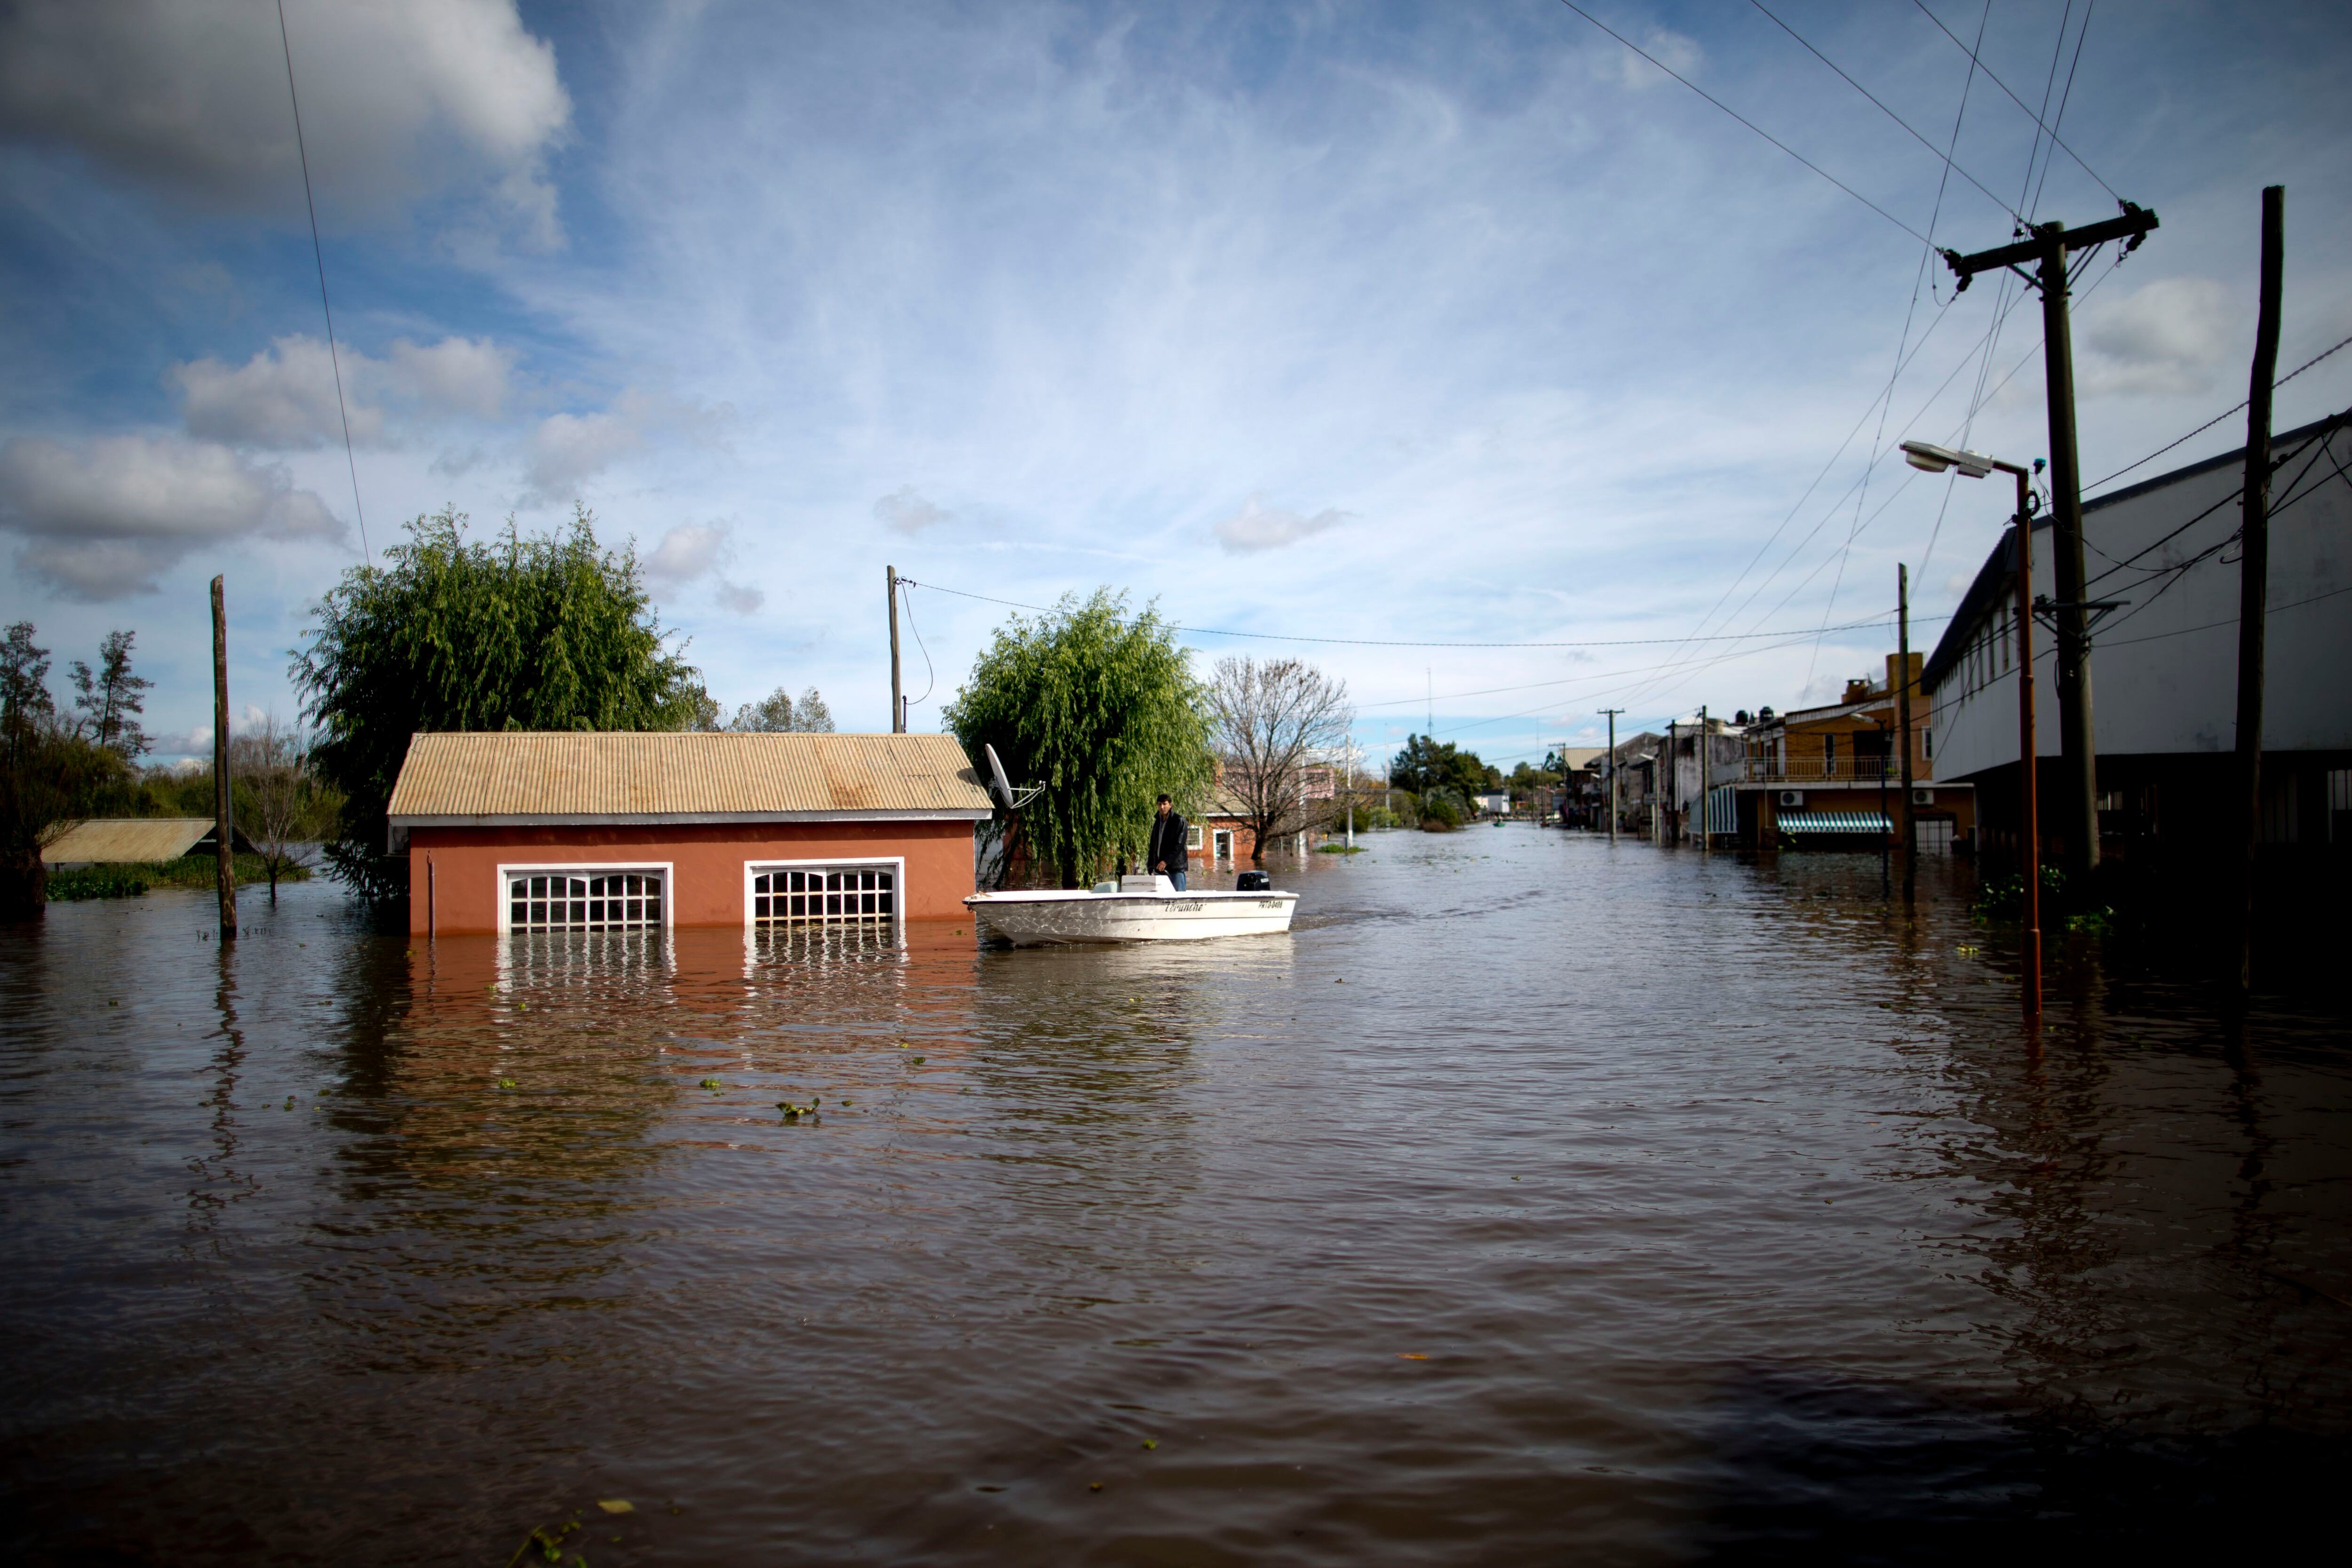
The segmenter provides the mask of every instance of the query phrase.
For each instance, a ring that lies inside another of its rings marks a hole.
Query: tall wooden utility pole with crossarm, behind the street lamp
[[[2042,292],[2042,371],[2051,428],[2051,548],[2058,576],[2058,733],[2065,752],[2065,823],[2067,851],[2077,875],[2098,870],[2098,743],[2091,731],[2091,611],[2082,562],[2082,463],[2074,451],[2074,339],[2067,324],[2067,254],[2089,252],[2107,240],[2122,240],[2129,256],[2157,228],[2157,214],[2124,202],[2124,216],[2067,230],[2065,223],[2034,223],[2025,240],[1999,249],[1943,259],[1966,289],[1969,280],[1990,268],[2020,268]]]

